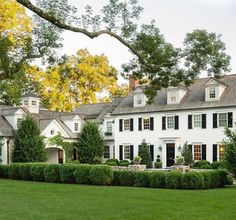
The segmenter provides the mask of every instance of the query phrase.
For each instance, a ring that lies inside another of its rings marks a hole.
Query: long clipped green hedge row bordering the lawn
[[[0,178],[52,183],[137,186],[168,189],[210,189],[232,184],[225,170],[113,171],[108,165],[25,163],[0,165]]]

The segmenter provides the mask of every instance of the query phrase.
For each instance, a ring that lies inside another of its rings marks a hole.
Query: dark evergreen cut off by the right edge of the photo
[[[236,177],[236,130],[225,128],[225,158],[227,169]]]

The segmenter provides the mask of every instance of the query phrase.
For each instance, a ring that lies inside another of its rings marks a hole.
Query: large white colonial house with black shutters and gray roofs
[[[163,167],[174,164],[186,143],[195,161],[223,159],[224,128],[232,128],[236,122],[236,75],[219,80],[201,78],[189,87],[162,89],[153,104],[147,104],[143,87],[135,83],[131,83],[133,90],[125,98],[81,105],[73,113],[40,109],[39,98],[30,93],[22,97],[20,107],[0,106],[2,163],[11,161],[13,132],[26,114],[37,119],[46,138],[60,132],[70,142],[77,141],[84,121],[96,120],[104,133],[104,160],[132,160],[144,140],[152,160],[160,155]],[[46,148],[48,162],[65,161],[60,146]],[[74,159],[77,157],[75,149]]]

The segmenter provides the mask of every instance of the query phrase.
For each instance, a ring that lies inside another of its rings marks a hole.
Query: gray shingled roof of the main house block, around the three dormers
[[[132,114],[141,112],[166,112],[178,110],[191,110],[202,108],[230,107],[236,106],[236,75],[226,75],[220,79],[222,83],[227,85],[219,101],[205,102],[205,83],[209,80],[201,78],[195,80],[188,89],[189,91],[183,97],[180,104],[167,105],[167,89],[157,92],[157,96],[153,104],[144,107],[133,107],[133,95],[130,93],[120,105],[113,111],[113,115]]]

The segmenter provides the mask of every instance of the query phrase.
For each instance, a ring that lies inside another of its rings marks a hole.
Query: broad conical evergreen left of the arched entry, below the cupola
[[[44,162],[46,151],[35,119],[26,116],[14,134],[12,162]]]

